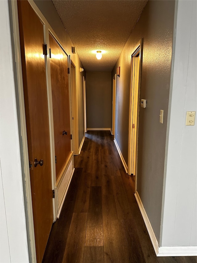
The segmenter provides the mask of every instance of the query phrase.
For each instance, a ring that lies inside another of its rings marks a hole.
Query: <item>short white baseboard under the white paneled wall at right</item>
[[[160,247],[157,257],[197,256],[197,246]]]

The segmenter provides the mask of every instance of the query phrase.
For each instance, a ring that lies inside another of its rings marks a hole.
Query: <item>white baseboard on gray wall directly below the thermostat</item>
[[[151,238],[151,242],[152,242],[153,248],[155,249],[155,254],[157,256],[158,253],[159,253],[159,244],[158,244],[157,238],[156,238],[155,233],[153,231],[153,228],[151,226],[151,222],[148,219],[147,213],[146,213],[146,211],[145,211],[145,209],[143,207],[143,203],[142,203],[142,201],[141,201],[141,199],[139,197],[139,194],[138,194],[137,190],[135,191],[135,198],[137,200],[137,203],[138,203],[138,206],[139,206],[139,210],[140,210],[140,212],[142,214],[144,223],[145,223],[145,225],[147,227],[148,234],[149,234],[149,236]]]

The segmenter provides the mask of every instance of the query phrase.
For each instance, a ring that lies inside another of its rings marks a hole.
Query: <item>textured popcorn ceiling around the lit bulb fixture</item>
[[[111,71],[147,0],[53,0],[86,71]],[[97,60],[96,50],[103,57]]]

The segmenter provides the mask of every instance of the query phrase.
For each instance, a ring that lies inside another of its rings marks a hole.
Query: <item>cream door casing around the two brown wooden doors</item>
[[[47,44],[47,48],[49,49],[49,33],[51,33],[55,39],[57,39],[58,43],[62,47],[60,39],[55,34],[53,29],[50,27],[46,18],[43,16],[41,11],[38,9],[33,0],[28,0],[31,7],[38,15],[39,19],[42,21],[44,25],[44,44]],[[11,1],[11,9],[12,9],[12,23],[14,28],[14,55],[16,60],[16,73],[17,73],[17,92],[18,92],[18,106],[19,106],[19,118],[20,118],[20,127],[21,129],[21,149],[23,152],[22,158],[24,159],[24,199],[27,204],[26,217],[27,220],[27,232],[29,235],[28,246],[29,246],[29,256],[32,262],[36,262],[36,249],[35,249],[35,235],[34,235],[34,221],[33,221],[33,208],[32,208],[32,198],[31,198],[31,185],[30,185],[30,170],[29,170],[29,156],[28,156],[28,144],[27,144],[27,131],[26,131],[26,117],[25,117],[25,104],[24,104],[24,92],[23,92],[23,79],[22,79],[22,63],[21,63],[21,49],[20,49],[20,37],[19,37],[19,25],[18,25],[18,7],[17,1]],[[69,52],[62,48],[66,54]],[[49,50],[47,50],[49,56]],[[49,111],[49,130],[50,130],[50,152],[51,152],[51,174],[52,174],[52,189],[54,189],[56,182],[56,174],[55,174],[55,147],[54,147],[54,126],[53,126],[53,108],[52,108],[52,92],[51,92],[51,81],[50,81],[50,67],[49,67],[49,59],[47,59],[46,65],[46,86],[47,86],[47,96],[48,96],[48,111]],[[70,65],[69,65],[70,67]],[[70,94],[70,78],[69,78],[69,94]],[[71,96],[71,94],[69,95]],[[71,97],[70,97],[71,100]],[[70,106],[71,107],[71,106]],[[71,110],[70,110],[70,122],[71,122]],[[72,123],[70,124],[72,127]],[[72,150],[71,145],[71,150]],[[53,199],[53,218],[54,221],[57,219],[58,214],[58,201],[57,196]]]

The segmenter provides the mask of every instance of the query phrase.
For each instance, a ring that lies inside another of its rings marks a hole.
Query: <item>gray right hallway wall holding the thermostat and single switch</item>
[[[175,1],[148,1],[113,71],[120,66],[116,81],[115,139],[128,164],[129,91],[131,53],[143,38],[140,99],[147,108],[139,111],[137,191],[157,240],[160,236],[167,113]],[[163,124],[159,123],[164,110]]]

